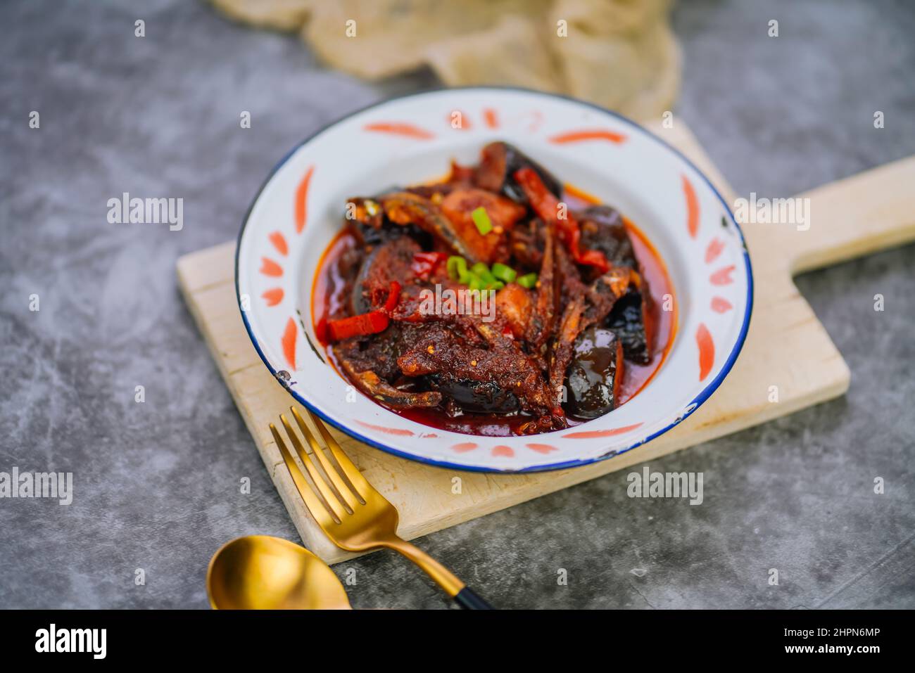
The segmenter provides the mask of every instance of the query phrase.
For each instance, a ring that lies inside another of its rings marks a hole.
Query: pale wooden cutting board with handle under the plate
[[[683,122],[652,130],[687,155],[727,202],[734,203],[727,182]],[[557,472],[480,474],[414,463],[332,432],[400,511],[400,535],[414,539],[842,395],[848,388],[848,367],[791,276],[915,240],[913,186],[915,157],[910,157],[799,195],[811,199],[808,230],[745,225],[756,297],[737,365],[689,419],[626,454]],[[353,554],[339,550],[318,529],[270,435],[268,423],[276,422],[294,400],[264,367],[242,326],[234,251],[235,242],[230,241],[181,257],[181,291],[305,546],[330,563],[343,561]],[[770,386],[778,386],[777,402],[770,401]]]

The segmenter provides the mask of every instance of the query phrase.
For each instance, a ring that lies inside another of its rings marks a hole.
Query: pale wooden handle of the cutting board
[[[810,199],[809,229],[778,225],[792,274],[915,240],[915,156],[798,197]]]

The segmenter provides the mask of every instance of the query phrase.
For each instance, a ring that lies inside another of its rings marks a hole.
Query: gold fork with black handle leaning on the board
[[[374,486],[366,481],[356,465],[340,449],[339,443],[330,436],[327,427],[311,411],[307,411],[318,433],[324,438],[334,463],[325,454],[324,448],[318,443],[314,434],[308,430],[305,421],[295,407],[290,407],[293,418],[296,419],[298,429],[305,435],[305,439],[314,456],[318,459],[321,471],[311,460],[305,446],[299,440],[284,414],[280,414],[285,432],[289,441],[296,449],[296,454],[305,465],[309,484],[296,464],[296,459],[286,448],[283,438],[276,426],[270,423],[270,432],[274,435],[276,445],[283,454],[289,475],[296,483],[299,495],[305,501],[305,506],[311,516],[318,522],[318,526],[325,535],[340,549],[348,551],[367,551],[386,547],[404,554],[425,571],[438,586],[445,590],[461,607],[471,610],[491,610],[492,606],[480,598],[476,593],[449,571],[441,563],[420,550],[415,545],[397,536],[397,522],[399,520],[397,509],[382,496]]]

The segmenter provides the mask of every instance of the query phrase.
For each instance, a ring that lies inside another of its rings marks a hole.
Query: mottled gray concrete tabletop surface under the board
[[[789,196],[915,154],[910,3],[689,2],[674,27],[677,110],[738,192]],[[0,607],[206,607],[223,542],[297,538],[175,260],[232,238],[300,138],[430,77],[371,86],[180,0],[5,3],[0,34],[0,471],[75,478],[69,507],[0,500]],[[124,191],[184,198],[185,228],[108,224]],[[702,506],[630,499],[624,472],[422,546],[501,607],[915,607],[913,264],[909,246],[799,279],[852,388],[651,464],[705,473]],[[347,568],[357,607],[447,606],[392,553]]]

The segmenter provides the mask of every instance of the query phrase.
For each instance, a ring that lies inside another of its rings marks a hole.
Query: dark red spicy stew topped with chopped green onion
[[[673,342],[651,242],[506,143],[441,182],[351,198],[312,294],[353,386],[458,433],[560,430],[630,400]]]

